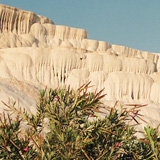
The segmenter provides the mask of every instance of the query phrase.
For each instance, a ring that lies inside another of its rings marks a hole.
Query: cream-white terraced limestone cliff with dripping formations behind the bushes
[[[158,124],[160,55],[87,37],[84,29],[0,5],[1,100],[14,99],[33,113],[39,89],[91,81],[90,91],[105,88],[105,103],[148,104],[142,114]]]

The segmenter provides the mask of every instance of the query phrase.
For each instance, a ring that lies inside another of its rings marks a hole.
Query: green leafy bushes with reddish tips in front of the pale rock
[[[147,126],[145,138],[137,139],[135,126],[131,125],[142,106],[122,107],[120,111],[116,105],[105,107],[101,103],[105,96],[102,91],[88,93],[88,87],[89,84],[77,91],[69,88],[41,91],[36,114],[6,105],[17,118],[12,120],[7,113],[1,115],[0,159],[160,159],[158,127]],[[98,112],[105,118],[100,119]],[[89,121],[91,117],[93,120]],[[26,129],[20,127],[21,123],[26,124]]]

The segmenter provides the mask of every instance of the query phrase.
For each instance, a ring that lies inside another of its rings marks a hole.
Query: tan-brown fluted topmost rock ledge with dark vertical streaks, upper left
[[[14,7],[0,5],[0,28],[1,32],[13,32],[17,34],[28,34],[34,23],[53,22],[46,17],[37,16],[33,12],[23,11]]]

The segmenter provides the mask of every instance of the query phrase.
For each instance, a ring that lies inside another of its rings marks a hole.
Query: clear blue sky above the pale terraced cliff
[[[89,39],[160,53],[160,0],[0,0],[57,25],[82,28]]]

